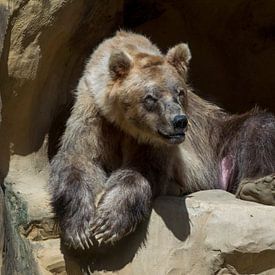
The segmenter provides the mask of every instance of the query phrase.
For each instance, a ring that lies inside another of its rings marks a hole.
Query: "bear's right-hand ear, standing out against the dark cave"
[[[171,48],[166,58],[171,65],[176,67],[176,69],[186,72],[191,59],[191,52],[187,44],[181,43]]]

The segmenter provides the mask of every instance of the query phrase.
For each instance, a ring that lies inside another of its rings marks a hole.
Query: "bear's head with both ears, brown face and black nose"
[[[108,119],[146,143],[179,144],[187,129],[186,44],[165,56],[116,50],[109,59],[112,84],[105,101]]]

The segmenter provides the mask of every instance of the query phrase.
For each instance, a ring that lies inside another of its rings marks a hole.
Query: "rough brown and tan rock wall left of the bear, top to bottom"
[[[37,237],[32,246],[29,233],[25,238],[22,230],[43,231],[41,224],[52,218],[44,191],[49,158],[56,150],[85,59],[116,30],[122,5],[123,1],[108,0],[0,2],[4,274],[64,271],[64,266],[59,269],[59,258],[50,253],[52,246],[59,249],[52,234],[45,240]],[[40,252],[44,248],[48,252]],[[37,255],[31,252],[35,249]],[[40,261],[49,266],[44,268]]]

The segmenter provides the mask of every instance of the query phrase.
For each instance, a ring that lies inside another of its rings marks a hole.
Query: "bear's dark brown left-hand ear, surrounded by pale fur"
[[[109,70],[112,79],[118,79],[126,76],[132,66],[131,57],[125,52],[115,50],[111,53],[109,59]]]

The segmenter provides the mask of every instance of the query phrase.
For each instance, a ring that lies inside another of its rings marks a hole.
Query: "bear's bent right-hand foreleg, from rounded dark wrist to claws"
[[[107,185],[109,188],[99,201],[92,228],[99,244],[120,240],[151,212],[151,186],[139,172],[118,170],[110,176]]]

